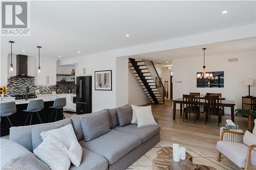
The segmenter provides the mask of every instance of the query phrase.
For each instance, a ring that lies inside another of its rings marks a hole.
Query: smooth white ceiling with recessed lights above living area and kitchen
[[[10,53],[9,40],[15,41],[14,54],[37,56],[36,46],[40,45],[42,58],[63,59],[249,25],[256,20],[255,4],[255,1],[31,1],[30,36],[1,37],[1,54]],[[222,14],[223,10],[228,13]]]

